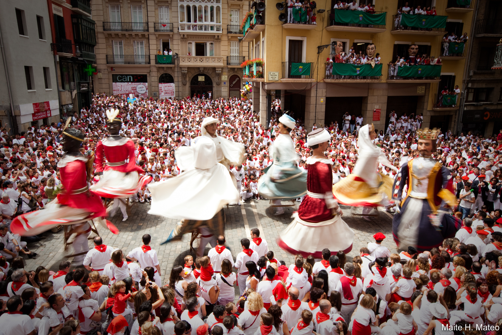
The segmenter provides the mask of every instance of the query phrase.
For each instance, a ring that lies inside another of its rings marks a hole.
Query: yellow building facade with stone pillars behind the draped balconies
[[[470,45],[467,42],[463,45],[463,52],[452,54],[449,50],[445,52],[444,48],[449,44],[443,44],[442,39],[451,32],[458,37],[463,33],[469,35],[475,5],[458,3],[456,0],[410,1],[409,7],[435,7],[438,16],[447,16],[443,18],[446,23],[442,28],[420,28],[403,27],[399,21],[397,10],[406,6],[404,1],[374,1],[376,14],[386,12],[385,25],[337,22],[337,12],[341,10],[333,10],[336,2],[331,0],[317,2],[315,24],[288,23],[287,3],[282,3],[285,9],[280,11],[281,4],[276,6],[276,2],[265,2],[265,10],[255,12],[255,15],[261,15],[258,21],[261,20],[262,25],[257,22],[243,35],[249,58],[258,55],[264,59],[264,78],[244,79],[254,81],[254,109],[260,110],[262,124],[266,123],[265,120],[268,122],[270,102],[280,97],[282,109],[304,119],[307,129],[311,129],[314,123],[320,126],[334,121],[341,128],[342,117],[348,112],[356,117],[362,115],[363,124],[373,123],[376,129],[385,131],[389,114],[395,110],[398,117],[404,113],[422,114],[423,127],[453,130],[459,122],[457,114],[461,96],[456,95],[454,104],[443,104],[440,92],[444,86],[449,91],[453,91],[456,85],[462,88],[465,55]],[[423,18],[429,19],[430,16],[424,15]],[[345,54],[351,47],[365,53],[366,47],[374,44],[383,64],[382,75],[333,75],[329,68],[332,65],[327,64],[327,59],[334,59],[337,51],[330,45],[332,43],[339,43]],[[440,73],[436,68],[437,75],[431,77],[396,76],[388,63],[395,62],[397,55],[409,56],[411,45],[416,45],[420,55],[436,58],[445,55],[441,57]],[[310,63],[311,75],[292,75],[291,69],[295,66],[292,63],[295,62]]]

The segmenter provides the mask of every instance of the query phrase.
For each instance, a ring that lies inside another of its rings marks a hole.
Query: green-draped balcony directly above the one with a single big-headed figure
[[[391,34],[442,36],[446,34],[447,20],[447,16],[440,15],[393,15]]]

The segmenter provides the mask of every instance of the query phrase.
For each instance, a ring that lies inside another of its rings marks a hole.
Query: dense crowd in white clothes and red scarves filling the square
[[[279,99],[273,101],[266,129],[251,100],[187,97],[128,103],[126,97],[98,94],[90,108],[71,118],[70,127],[85,134],[82,151],[94,150],[108,135],[105,111],[111,107],[119,109],[120,134],[133,140],[136,164],[152,182],[182,173],[175,150],[195,143],[204,118],[218,119],[217,135],[245,148],[242,165],[230,166],[238,204],[261,199],[258,180],[273,163],[269,150],[283,114]],[[419,154],[415,134],[422,116],[398,117],[392,111],[389,120],[386,134],[374,129],[379,134],[374,144],[399,170]],[[358,159],[363,118],[346,113],[340,121],[342,125],[319,125],[331,136],[325,156],[333,162],[334,184],[351,174]],[[43,208],[56,197],[63,126],[61,120],[32,127],[15,138],[2,129],[2,335],[501,333],[502,131],[487,138],[470,132],[439,134],[433,159],[451,171],[457,197],[451,213],[463,220],[463,227],[442,246],[423,253],[407,246],[400,246],[406,250],[400,254],[391,253],[382,246],[386,236],[376,233],[374,242],[360,248],[352,260],[343,251],[324,249],[320,259],[299,254],[288,264],[260,237],[266,232],[254,228],[249,238],[240,240],[239,251],[228,250],[223,235],[215,236],[207,256],[186,256],[172,269],[161,269],[148,234],[131,251],[106,245],[100,237],[89,250],[90,230],[74,229],[85,241],[81,259],[62,261],[58,272],[43,266],[31,271],[22,256],[36,257],[27,242],[44,234],[20,237],[9,226],[16,215]],[[316,124],[307,129],[298,120],[290,132],[300,169],[307,168],[305,161],[312,155],[306,135],[316,129]],[[378,170],[397,182],[401,178],[387,166]],[[99,174],[93,177],[99,180]],[[129,200],[149,198],[146,185]],[[166,285],[161,281],[164,273]]]

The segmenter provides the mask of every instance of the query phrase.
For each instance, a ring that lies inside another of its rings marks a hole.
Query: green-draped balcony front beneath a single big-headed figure
[[[441,65],[389,64],[387,82],[440,82]]]

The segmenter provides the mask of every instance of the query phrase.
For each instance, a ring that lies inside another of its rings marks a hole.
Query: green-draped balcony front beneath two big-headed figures
[[[382,64],[344,64],[325,63],[325,82],[380,82],[382,81]]]

